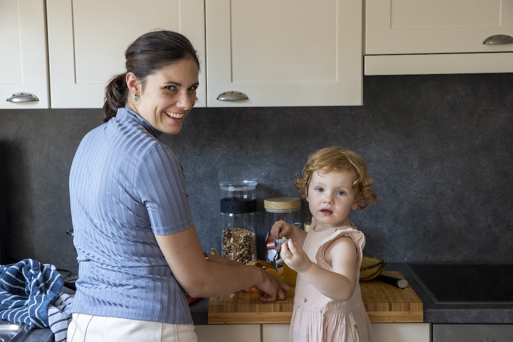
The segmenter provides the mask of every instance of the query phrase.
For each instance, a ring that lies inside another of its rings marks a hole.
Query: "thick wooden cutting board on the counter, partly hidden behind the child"
[[[402,278],[400,272],[383,274]],[[422,322],[423,305],[408,285],[400,289],[379,280],[361,281],[362,299],[372,323]],[[284,300],[261,301],[254,292],[212,297],[208,301],[208,324],[289,324],[294,303],[294,288]]]

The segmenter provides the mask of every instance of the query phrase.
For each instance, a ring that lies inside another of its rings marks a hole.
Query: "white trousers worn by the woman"
[[[198,342],[192,324],[72,314],[67,342]]]

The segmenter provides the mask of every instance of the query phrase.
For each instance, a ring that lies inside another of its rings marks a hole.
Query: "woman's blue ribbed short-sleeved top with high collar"
[[[120,108],[78,146],[69,178],[74,313],[193,324],[154,236],[193,224],[182,166],[160,134]]]

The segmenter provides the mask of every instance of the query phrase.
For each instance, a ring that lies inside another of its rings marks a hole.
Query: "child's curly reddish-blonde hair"
[[[358,198],[358,209],[363,210],[369,203],[376,205],[378,196],[372,191],[373,180],[369,177],[367,165],[361,156],[342,147],[327,147],[308,156],[303,175],[294,179],[294,187],[302,197],[306,197],[313,172],[345,172],[354,174],[353,190]]]

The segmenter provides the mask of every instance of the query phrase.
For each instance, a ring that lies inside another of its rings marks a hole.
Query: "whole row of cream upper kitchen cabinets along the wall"
[[[362,105],[363,74],[513,72],[513,0],[3,0],[0,108],[101,108],[154,29],[198,50],[195,107]]]

